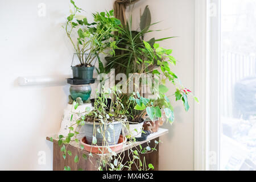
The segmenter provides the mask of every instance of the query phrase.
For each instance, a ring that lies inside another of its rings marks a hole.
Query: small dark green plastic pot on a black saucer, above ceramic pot
[[[93,78],[93,67],[71,67],[73,78],[77,80],[91,80]]]

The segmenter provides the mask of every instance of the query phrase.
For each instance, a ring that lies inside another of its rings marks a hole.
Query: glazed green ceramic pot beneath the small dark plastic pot
[[[81,97],[82,101],[87,101],[90,98],[92,88],[90,85],[71,85],[69,92],[74,101],[77,97]]]

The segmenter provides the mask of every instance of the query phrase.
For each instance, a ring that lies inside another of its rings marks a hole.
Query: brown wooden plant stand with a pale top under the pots
[[[168,133],[167,129],[159,128],[158,132],[148,135],[147,140],[144,140],[142,142],[135,142],[133,147],[139,146],[139,144],[141,144],[142,147],[146,147],[146,146],[154,147],[155,140],[159,141],[159,137],[164,134],[167,134],[167,133]],[[98,170],[98,167],[100,164],[100,159],[102,157],[107,157],[108,155],[110,155],[110,154],[104,154],[104,156],[103,156],[102,154],[92,154],[92,156],[88,156],[89,152],[87,152],[85,150],[81,150],[81,148],[79,147],[79,144],[77,144],[76,142],[72,142],[68,146],[68,150],[70,150],[72,152],[72,156],[67,156],[67,158],[64,159],[62,156],[63,152],[60,151],[61,147],[59,147],[59,145],[58,145],[56,135],[49,136],[46,139],[50,140],[51,137],[53,138],[53,171],[63,171],[65,166],[71,167],[71,169],[74,171],[76,171],[80,168],[83,169],[84,171],[96,171],[96,170]],[[129,144],[125,144],[125,146],[124,146],[125,160],[129,158],[129,156],[127,154],[127,150],[131,147],[132,146],[130,146]],[[122,151],[123,150],[118,151],[117,153],[120,153]],[[87,156],[86,159],[82,158],[82,154],[85,154]],[[141,157],[141,159],[145,158],[147,164],[151,163],[155,168],[154,170],[158,171],[158,169],[159,169],[158,154],[159,154],[159,145],[156,147],[156,151],[152,151],[149,154],[143,154],[140,157]],[[80,156],[80,160],[77,163],[74,162],[74,158],[76,155]],[[136,170],[136,168],[134,166],[132,166],[131,169]]]

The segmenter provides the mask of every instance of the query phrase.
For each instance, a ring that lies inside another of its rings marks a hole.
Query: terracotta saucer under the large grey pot
[[[109,146],[111,148],[112,151],[118,151],[121,150],[123,148],[123,144],[126,142],[126,138],[123,137],[123,135],[120,135],[118,143],[113,145],[113,146]],[[90,144],[88,144],[86,137],[82,138],[80,140],[80,143],[84,146],[84,149],[88,152],[92,152],[94,154],[107,154],[109,153],[108,148],[106,146],[92,146]]]

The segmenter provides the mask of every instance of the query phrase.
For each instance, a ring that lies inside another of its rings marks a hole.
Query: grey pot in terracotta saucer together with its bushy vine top
[[[94,100],[94,109],[81,117],[84,123],[85,137],[88,144],[112,146],[118,143],[122,126],[126,123],[126,109],[121,106],[121,100],[114,89],[104,87]],[[107,106],[107,100],[112,95],[112,105]]]

